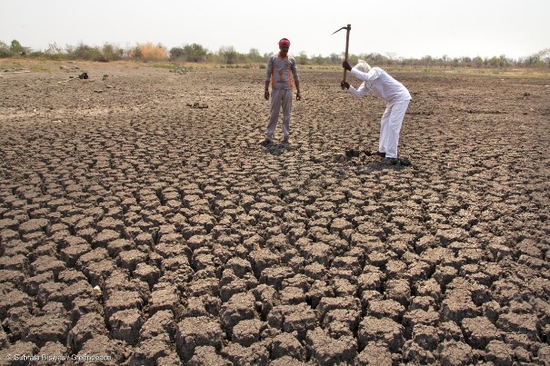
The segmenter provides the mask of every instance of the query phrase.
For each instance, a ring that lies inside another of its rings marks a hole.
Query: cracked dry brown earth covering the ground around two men
[[[547,75],[393,73],[384,166],[337,70],[265,148],[264,70],[43,68],[0,78],[0,363],[550,362]]]

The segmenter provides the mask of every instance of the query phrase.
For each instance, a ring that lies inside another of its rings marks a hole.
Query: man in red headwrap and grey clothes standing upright
[[[294,57],[288,55],[289,47],[290,41],[286,38],[281,39],[279,41],[279,53],[274,54],[267,60],[267,69],[265,70],[265,100],[269,100],[270,82],[272,90],[269,124],[267,124],[267,131],[265,131],[265,139],[261,142],[264,146],[273,141],[281,106],[283,106],[283,143],[288,143],[293,79],[296,84],[296,100],[299,101],[302,99],[300,95],[300,78],[296,70]]]

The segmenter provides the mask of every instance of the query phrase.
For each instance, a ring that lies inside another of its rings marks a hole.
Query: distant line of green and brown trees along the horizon
[[[271,54],[260,54],[257,49],[251,48],[247,54],[237,52],[233,46],[221,47],[217,52],[212,52],[202,45],[192,44],[181,47],[173,47],[168,50],[164,45],[152,43],[136,44],[130,48],[120,48],[116,45],[105,44],[102,46],[90,45],[65,45],[61,47],[53,44],[44,51],[36,51],[21,45],[13,40],[10,45],[0,41],[0,58],[25,56],[37,59],[49,60],[86,60],[98,62],[110,62],[119,60],[135,61],[169,61],[184,63],[211,63],[211,64],[261,64],[267,61]],[[303,65],[336,65],[342,62],[342,54],[330,54],[328,56],[305,54],[300,52],[294,55],[298,64]],[[550,68],[550,48],[541,50],[535,54],[512,59],[505,54],[494,57],[433,57],[426,55],[422,58],[403,58],[394,54],[351,54],[350,64],[355,64],[357,59],[365,59],[371,64],[416,66],[416,67],[472,67],[472,68]]]

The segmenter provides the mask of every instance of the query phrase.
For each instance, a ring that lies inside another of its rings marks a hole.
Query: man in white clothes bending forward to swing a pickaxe
[[[355,75],[357,79],[363,80],[363,84],[358,89],[350,86],[347,82],[340,83],[350,94],[361,98],[372,93],[385,101],[385,112],[380,121],[380,141],[375,154],[384,157],[383,163],[385,164],[397,163],[397,145],[399,144],[401,124],[403,124],[406,109],[411,101],[411,94],[403,84],[380,67],[371,68],[363,60],[359,60],[359,64],[353,69],[347,61],[342,63],[342,67],[351,71],[351,74]]]

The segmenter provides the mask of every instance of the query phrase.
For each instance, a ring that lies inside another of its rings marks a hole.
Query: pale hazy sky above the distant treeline
[[[331,33],[351,24],[350,54],[517,59],[550,48],[549,15],[550,0],[0,0],[0,41],[265,54],[286,37],[291,54],[327,56],[344,52],[345,31]]]

